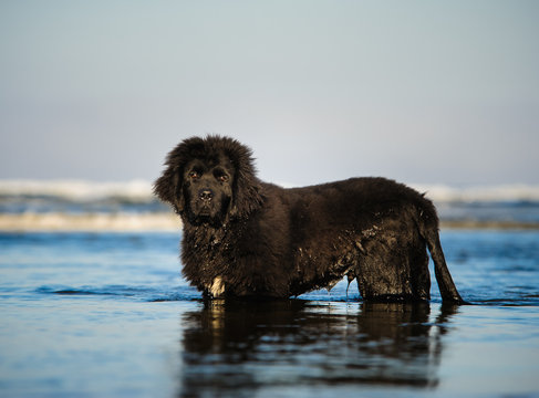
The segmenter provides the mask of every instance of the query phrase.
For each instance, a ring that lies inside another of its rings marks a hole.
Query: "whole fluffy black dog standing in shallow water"
[[[155,193],[182,217],[183,273],[208,296],[297,296],[357,280],[364,300],[429,298],[426,248],[444,301],[462,303],[433,203],[384,178],[283,189],[219,136],[174,148]]]

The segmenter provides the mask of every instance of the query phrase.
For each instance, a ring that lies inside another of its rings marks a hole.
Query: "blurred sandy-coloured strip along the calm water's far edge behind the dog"
[[[173,213],[0,213],[0,232],[174,232],[182,222]],[[538,222],[442,220],[440,229],[539,230]]]

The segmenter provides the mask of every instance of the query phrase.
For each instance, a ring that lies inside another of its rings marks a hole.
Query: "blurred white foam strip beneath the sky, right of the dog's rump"
[[[539,202],[539,186],[512,184],[455,188],[413,184],[411,187],[435,202]]]

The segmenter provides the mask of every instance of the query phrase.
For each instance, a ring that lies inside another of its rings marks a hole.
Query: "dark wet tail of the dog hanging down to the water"
[[[442,243],[439,242],[438,218],[436,217],[435,210],[434,213],[429,216],[431,217],[423,217],[423,222],[421,222],[421,233],[427,243],[428,251],[434,261],[434,274],[436,275],[436,282],[438,282],[442,300],[448,303],[465,304],[465,301],[460,297],[460,294],[458,294],[457,287],[453,282],[453,277],[445,262],[444,251],[442,250]]]

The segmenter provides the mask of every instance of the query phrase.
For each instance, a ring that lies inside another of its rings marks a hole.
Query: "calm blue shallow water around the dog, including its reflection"
[[[178,240],[0,234],[0,396],[539,396],[539,231],[444,232],[459,307],[204,303]]]

